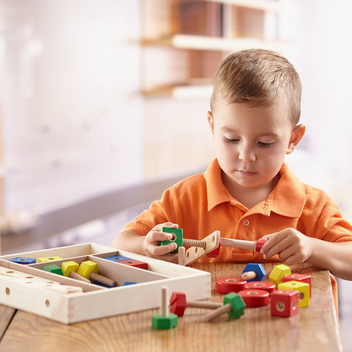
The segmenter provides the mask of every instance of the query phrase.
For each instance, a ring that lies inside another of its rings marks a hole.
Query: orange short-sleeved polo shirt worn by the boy
[[[184,238],[203,239],[215,230],[225,238],[255,241],[293,227],[309,237],[329,242],[352,240],[352,226],[342,218],[332,199],[322,190],[302,184],[283,163],[280,179],[269,196],[251,209],[234,199],[221,179],[214,159],[204,174],[188,177],[167,189],[124,231],[146,235],[154,226],[170,221],[183,229]],[[278,255],[265,260],[260,252],[221,247],[216,258],[200,262],[279,262]],[[334,288],[337,304],[336,284]]]

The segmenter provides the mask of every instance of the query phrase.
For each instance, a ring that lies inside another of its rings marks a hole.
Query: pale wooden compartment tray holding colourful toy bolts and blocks
[[[146,262],[148,270],[102,259],[117,255]],[[98,264],[99,274],[114,279],[116,287],[106,288],[44,271],[44,266],[48,265],[48,262],[38,263],[38,258],[51,256],[62,258],[49,263],[59,266],[69,260],[74,260],[78,264],[92,260]],[[37,263],[21,265],[10,262],[15,257],[36,258]],[[64,324],[157,308],[160,305],[160,287],[163,285],[169,287],[169,292],[186,293],[189,300],[210,297],[208,272],[95,243],[1,256],[0,266],[60,282],[63,285],[82,287],[83,292],[63,294],[33,286],[30,282],[26,283],[28,280],[14,280],[0,275],[0,303]],[[126,281],[138,284],[122,286]]]

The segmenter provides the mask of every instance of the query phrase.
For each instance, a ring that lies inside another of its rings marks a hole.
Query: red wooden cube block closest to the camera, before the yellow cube
[[[298,313],[298,291],[276,290],[271,293],[271,315],[292,316]]]

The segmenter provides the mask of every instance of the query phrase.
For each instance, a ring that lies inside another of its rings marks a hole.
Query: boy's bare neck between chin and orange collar
[[[227,188],[228,192],[241,204],[243,204],[247,209],[251,209],[263,200],[265,200],[269,194],[274,190],[277,185],[280,176],[277,174],[270,182],[255,188],[245,188],[237,184],[226,182],[226,177],[224,177],[221,171],[222,182]]]

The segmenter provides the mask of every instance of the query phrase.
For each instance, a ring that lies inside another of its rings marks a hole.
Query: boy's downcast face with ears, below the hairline
[[[285,155],[304,134],[304,125],[292,129],[287,111],[279,104],[250,106],[222,101],[213,115],[208,112],[208,120],[228,189],[270,186]]]

